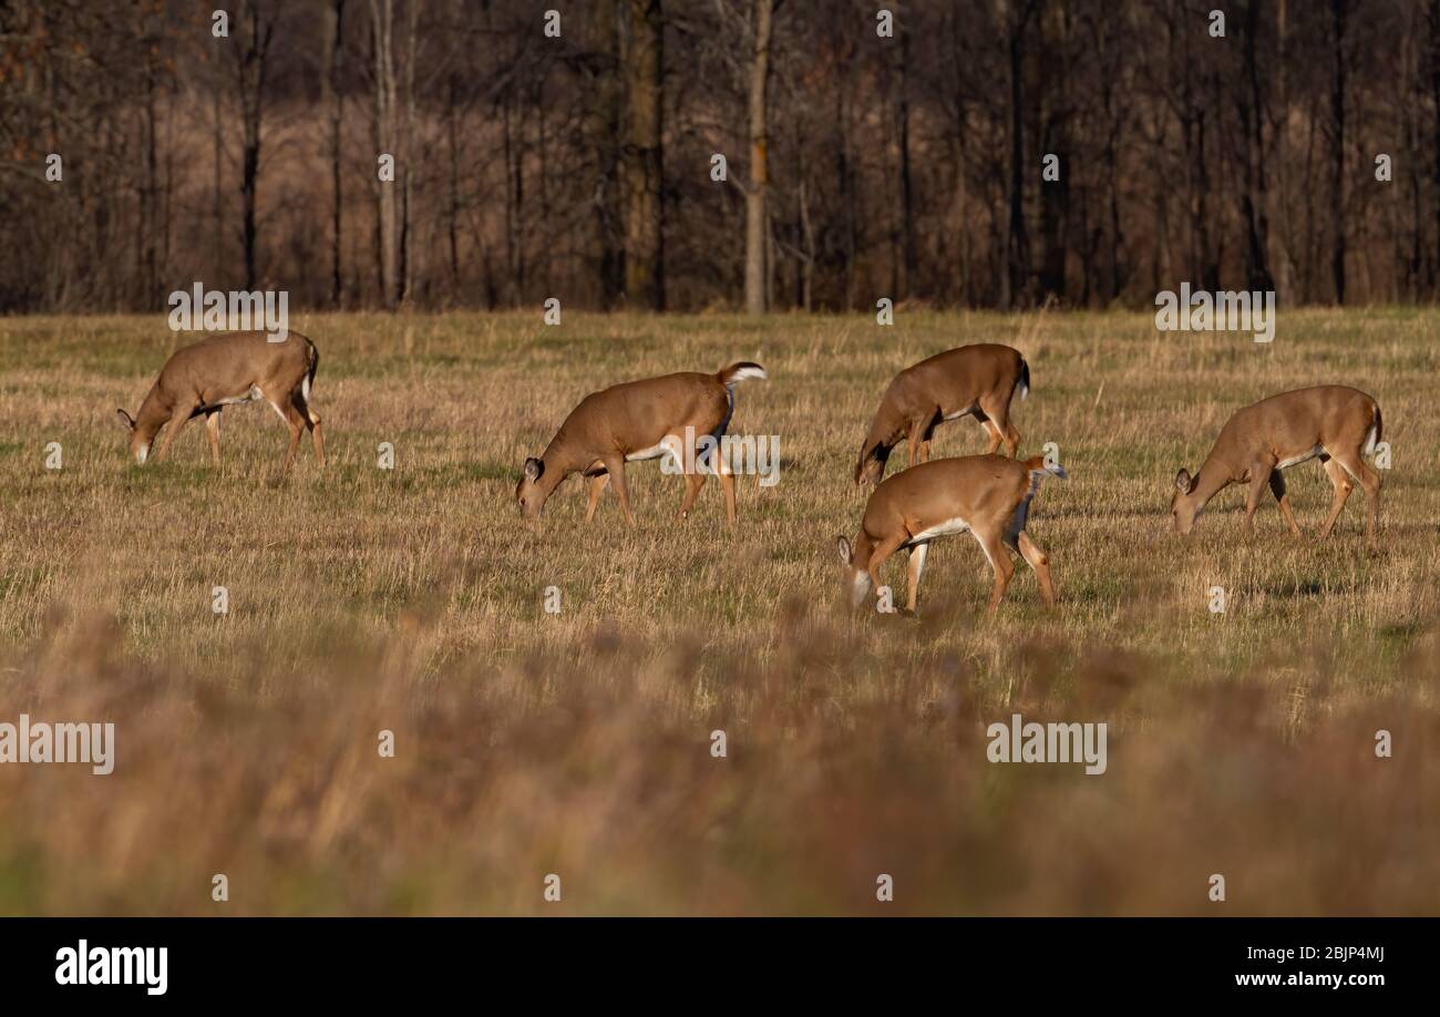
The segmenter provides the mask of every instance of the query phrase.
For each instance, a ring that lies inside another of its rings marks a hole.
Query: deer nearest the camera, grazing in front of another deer
[[[847,569],[852,605],[858,608],[865,593],[880,586],[880,566],[886,559],[906,550],[910,556],[906,606],[914,611],[930,542],[969,533],[995,570],[991,612],[999,606],[1015,575],[1005,547],[1025,559],[1040,581],[1045,606],[1053,608],[1056,588],[1050,582],[1050,559],[1025,533],[1030,501],[1045,477],[1066,478],[1067,474],[1060,465],[1047,467],[1038,455],[1018,461],[992,452],[933,460],[894,474],[870,496],[854,546],[840,537],[840,560]]]

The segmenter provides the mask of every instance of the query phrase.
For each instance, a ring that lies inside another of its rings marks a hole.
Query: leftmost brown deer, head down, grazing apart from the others
[[[203,413],[210,435],[210,458],[220,465],[220,409],[265,399],[289,426],[285,470],[295,460],[300,432],[305,428],[310,428],[315,445],[315,460],[324,465],[320,415],[310,408],[310,389],[318,364],[315,344],[298,331],[291,331],[279,343],[271,343],[264,331],[252,331],[212,336],[179,349],[160,369],[160,377],[150,386],[140,412],[131,416],[120,411],[120,419],[130,431],[130,454],[144,465],[151,442],[168,424],[156,454],[156,458],[166,458],[176,435]]]

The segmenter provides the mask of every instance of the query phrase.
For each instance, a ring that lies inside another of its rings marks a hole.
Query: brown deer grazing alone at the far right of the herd
[[[1256,508],[1269,485],[1290,533],[1300,536],[1280,471],[1319,457],[1335,487],[1335,503],[1320,527],[1320,540],[1329,536],[1351,490],[1359,484],[1369,503],[1365,537],[1374,543],[1380,521],[1380,474],[1364,457],[1375,451],[1382,436],[1380,403],[1344,385],[1286,392],[1237,409],[1195,475],[1187,470],[1175,474],[1176,490],[1171,498],[1175,529],[1189,533],[1207,501],[1231,484],[1248,484],[1246,527],[1254,530]]]

